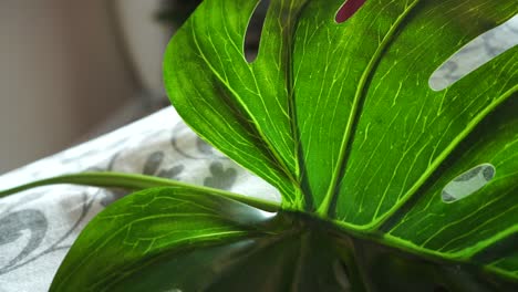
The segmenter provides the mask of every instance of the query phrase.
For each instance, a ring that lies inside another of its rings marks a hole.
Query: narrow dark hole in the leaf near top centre
[[[249,63],[256,61],[262,27],[265,27],[266,14],[269,6],[270,0],[260,0],[253,10],[250,21],[248,21],[247,33],[245,34],[244,52],[245,59]]]

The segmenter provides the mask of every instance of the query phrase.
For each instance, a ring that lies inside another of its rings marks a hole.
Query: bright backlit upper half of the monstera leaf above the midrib
[[[516,234],[518,48],[446,90],[428,86],[516,1],[369,0],[335,23],[343,1],[273,0],[249,64],[257,2],[207,0],[168,46],[168,95],[201,137],[277,186],[283,208],[413,253],[469,262]],[[496,167],[488,185],[441,200],[484,163]],[[518,279],[504,259],[516,248],[495,252],[479,264]]]

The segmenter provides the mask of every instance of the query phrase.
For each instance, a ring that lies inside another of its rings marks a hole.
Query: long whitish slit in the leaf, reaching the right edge
[[[449,56],[428,79],[433,91],[442,91],[497,55],[518,44],[518,14],[478,35]]]

